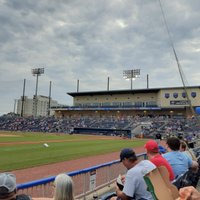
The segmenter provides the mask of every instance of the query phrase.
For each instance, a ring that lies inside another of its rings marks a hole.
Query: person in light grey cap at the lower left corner
[[[14,174],[0,173],[0,199],[31,200],[31,197],[25,194],[17,195],[17,184]]]

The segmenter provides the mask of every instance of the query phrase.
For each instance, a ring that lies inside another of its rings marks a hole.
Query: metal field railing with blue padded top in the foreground
[[[146,153],[137,154],[140,160],[146,159]],[[106,186],[110,186],[119,174],[125,174],[126,169],[119,160],[96,165],[82,170],[67,173],[74,181],[75,197],[86,199],[90,195]],[[18,193],[25,193],[32,197],[53,197],[53,182],[55,176],[43,178],[17,185]]]

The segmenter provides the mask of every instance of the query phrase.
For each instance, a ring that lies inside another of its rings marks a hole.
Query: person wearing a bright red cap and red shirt
[[[174,180],[174,172],[169,162],[160,154],[158,143],[155,140],[149,140],[144,145],[148,159],[157,167],[165,166],[169,172],[169,180]]]

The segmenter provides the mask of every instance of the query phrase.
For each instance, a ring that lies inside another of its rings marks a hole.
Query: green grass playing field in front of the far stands
[[[44,147],[44,143],[49,147]],[[0,132],[0,171],[116,152],[125,147],[143,146],[144,143],[145,140],[106,140],[88,135]]]

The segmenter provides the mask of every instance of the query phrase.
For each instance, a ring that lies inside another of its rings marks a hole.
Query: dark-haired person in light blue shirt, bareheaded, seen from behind
[[[175,178],[184,174],[189,168],[197,170],[198,163],[193,162],[186,154],[180,152],[180,140],[170,137],[166,141],[167,153],[162,156],[169,162],[174,171]]]

